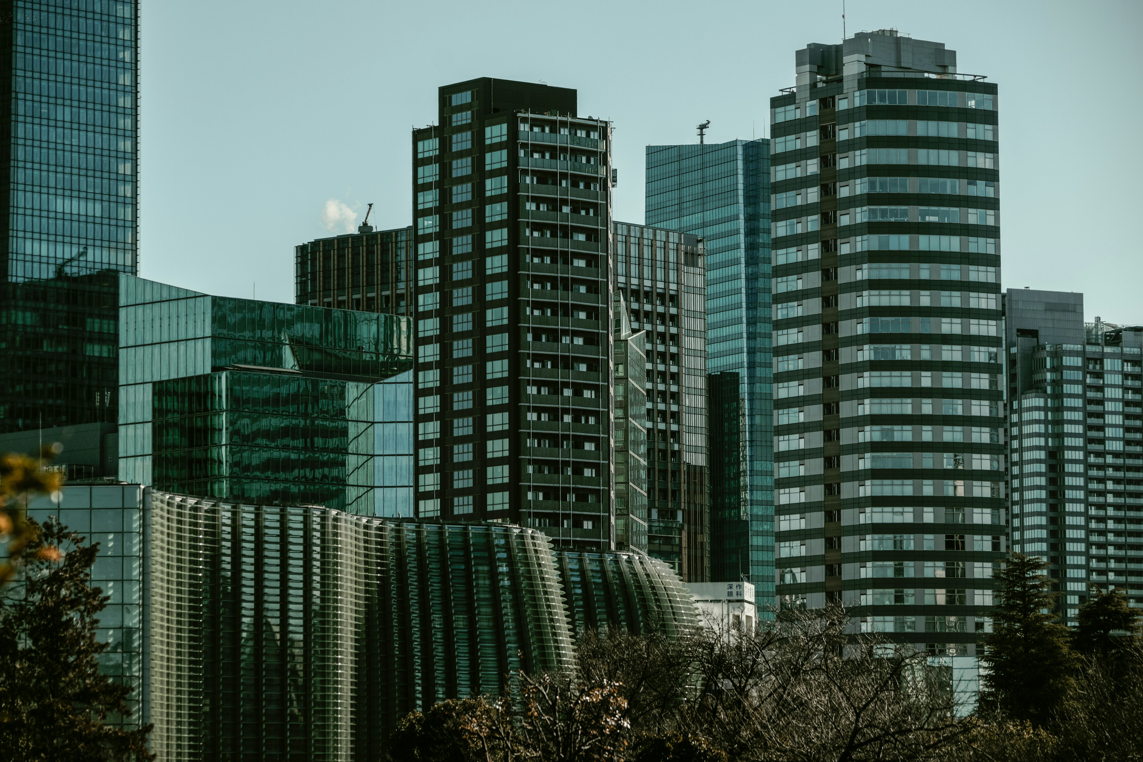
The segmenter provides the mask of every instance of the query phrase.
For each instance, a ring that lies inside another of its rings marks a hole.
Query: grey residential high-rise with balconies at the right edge
[[[1008,289],[1012,546],[1077,624],[1088,584],[1143,604],[1143,327],[1084,322],[1084,295]]]

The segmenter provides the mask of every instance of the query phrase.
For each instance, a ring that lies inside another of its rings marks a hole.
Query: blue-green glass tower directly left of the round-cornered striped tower
[[[710,579],[749,578],[760,605],[774,602],[769,185],[767,141],[647,146],[647,224],[705,250]]]

